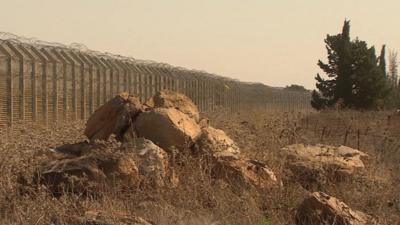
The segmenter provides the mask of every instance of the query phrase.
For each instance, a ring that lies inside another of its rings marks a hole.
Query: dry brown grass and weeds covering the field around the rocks
[[[373,215],[379,224],[400,221],[400,115],[390,112],[245,112],[207,115],[252,158],[267,162],[283,187],[254,191],[211,178],[191,157],[179,167],[176,188],[101,190],[100,196],[52,197],[30,185],[51,147],[85,139],[84,124],[51,128],[28,124],[0,131],[0,224],[79,224],[87,210],[135,214],[155,224],[294,224],[296,207],[308,191],[324,191],[354,209]],[[293,143],[325,143],[358,148],[370,154],[366,170],[341,183],[304,189],[284,167],[280,148]],[[108,143],[109,149],[118,143]],[[117,224],[117,223],[116,223]]]

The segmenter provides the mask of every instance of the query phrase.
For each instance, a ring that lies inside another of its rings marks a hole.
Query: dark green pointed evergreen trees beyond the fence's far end
[[[368,109],[381,106],[388,94],[386,81],[385,46],[376,57],[375,48],[350,39],[350,22],[345,21],[342,33],[327,35],[325,39],[328,62],[318,61],[327,74],[317,74],[312,106],[316,109],[332,107],[341,102],[344,107]]]

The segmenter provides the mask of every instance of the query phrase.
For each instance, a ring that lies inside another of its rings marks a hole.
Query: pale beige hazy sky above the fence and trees
[[[323,39],[351,34],[400,50],[398,0],[0,0],[0,31],[314,88]]]

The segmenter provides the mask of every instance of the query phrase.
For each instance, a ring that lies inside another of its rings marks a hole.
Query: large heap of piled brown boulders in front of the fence
[[[90,116],[84,134],[89,142],[54,149],[64,157],[40,168],[35,183],[55,195],[95,192],[110,183],[174,187],[179,182],[174,169],[178,152],[211,159],[216,179],[258,188],[277,184],[265,164],[241,156],[234,141],[200,120],[197,106],[180,93],[161,91],[145,104],[121,93]],[[118,151],[107,153],[101,143],[112,135],[121,144]]]

